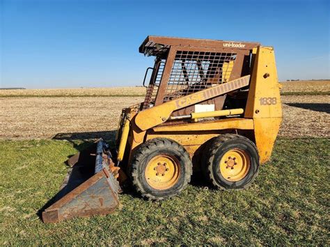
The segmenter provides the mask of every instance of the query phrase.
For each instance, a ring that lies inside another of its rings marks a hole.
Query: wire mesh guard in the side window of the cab
[[[233,53],[177,51],[163,102],[227,82],[235,58]]]

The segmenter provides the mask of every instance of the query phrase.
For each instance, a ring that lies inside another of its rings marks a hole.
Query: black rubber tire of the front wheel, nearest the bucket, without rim
[[[145,177],[148,162],[159,154],[170,154],[178,159],[180,177],[171,188],[158,190],[152,188]],[[134,153],[131,164],[131,178],[134,189],[144,198],[150,200],[164,200],[178,195],[190,182],[192,163],[188,152],[182,145],[168,138],[155,138],[143,143]]]

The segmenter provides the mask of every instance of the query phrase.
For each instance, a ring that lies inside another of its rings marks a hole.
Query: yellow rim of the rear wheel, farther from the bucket
[[[220,173],[230,182],[242,180],[249,173],[250,167],[249,154],[241,149],[229,150],[220,161]]]

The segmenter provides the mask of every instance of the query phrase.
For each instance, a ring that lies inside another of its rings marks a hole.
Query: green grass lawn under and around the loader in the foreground
[[[164,202],[123,194],[113,214],[44,224],[37,212],[58,191],[78,144],[0,141],[1,245],[330,244],[329,139],[279,138],[244,191],[197,183]]]

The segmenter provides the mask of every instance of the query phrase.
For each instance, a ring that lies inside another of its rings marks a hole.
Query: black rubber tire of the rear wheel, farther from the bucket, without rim
[[[233,148],[239,148],[249,154],[250,169],[246,176],[237,182],[230,182],[220,173],[220,161],[223,154]],[[203,153],[202,170],[207,180],[218,189],[239,190],[251,185],[258,175],[259,154],[256,145],[244,136],[237,134],[223,134],[212,138]]]

